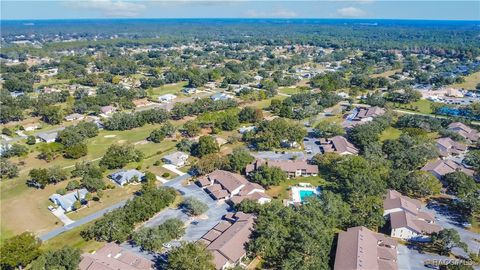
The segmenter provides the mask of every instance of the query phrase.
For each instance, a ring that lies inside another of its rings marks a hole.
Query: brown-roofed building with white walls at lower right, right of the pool
[[[435,224],[435,217],[420,210],[422,203],[389,190],[383,201],[383,215],[390,220],[391,236],[403,240],[426,240],[428,235],[439,232],[442,227]]]

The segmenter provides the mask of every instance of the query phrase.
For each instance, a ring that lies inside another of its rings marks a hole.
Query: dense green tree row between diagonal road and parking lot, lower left
[[[175,197],[176,192],[171,188],[143,191],[122,208],[105,214],[93,225],[81,231],[80,235],[86,240],[124,242],[131,236],[136,224],[153,217],[173,203]]]

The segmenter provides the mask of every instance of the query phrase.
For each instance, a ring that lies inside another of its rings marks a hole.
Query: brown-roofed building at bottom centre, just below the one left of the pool
[[[245,244],[253,232],[255,216],[237,212],[226,217],[199,240],[212,252],[215,268],[230,269],[247,254]]]

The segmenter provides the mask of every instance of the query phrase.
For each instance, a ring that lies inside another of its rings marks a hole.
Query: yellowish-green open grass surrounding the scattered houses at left
[[[29,188],[25,185],[25,181],[28,179],[28,172],[31,168],[60,166],[72,169],[77,162],[99,160],[105,154],[107,148],[114,143],[136,144],[135,147],[145,154],[146,159],[130,166],[135,168],[138,165],[142,165],[145,168],[153,164],[155,160],[160,159],[158,154],[164,155],[165,152],[174,149],[176,144],[172,140],[165,140],[159,144],[143,141],[158,126],[146,125],[128,131],[100,131],[97,137],[88,141],[88,155],[78,160],[58,157],[48,163],[37,159],[38,153],[35,151],[27,157],[14,160],[15,162],[22,161],[25,164],[20,166],[19,177],[0,182],[0,215],[2,216],[0,221],[0,241],[23,231],[32,231],[40,234],[61,225],[58,223],[59,220],[47,209],[47,206],[51,204],[48,197],[55,193],[57,189],[64,188],[68,181],[57,185],[49,185],[43,190]],[[91,208],[82,209],[71,215],[74,218],[85,216],[96,209],[107,207],[124,198],[128,198],[132,192],[121,188],[108,190],[105,192],[102,203],[93,203]]]

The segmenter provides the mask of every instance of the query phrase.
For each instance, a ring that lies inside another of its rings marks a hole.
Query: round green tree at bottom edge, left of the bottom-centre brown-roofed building
[[[167,270],[213,270],[213,255],[200,242],[183,243],[170,251]]]

